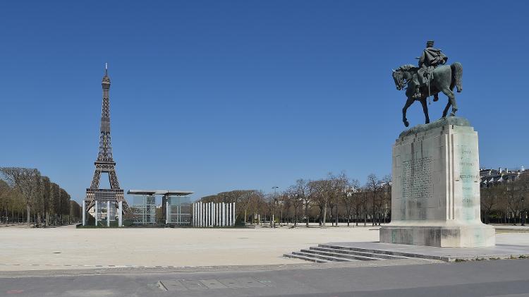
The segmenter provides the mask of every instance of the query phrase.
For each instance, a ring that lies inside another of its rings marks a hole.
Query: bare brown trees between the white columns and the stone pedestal
[[[372,225],[389,221],[391,210],[391,178],[375,174],[367,176],[360,186],[346,174],[329,174],[316,181],[298,179],[281,192],[265,194],[260,190],[233,190],[206,196],[202,202],[236,202],[236,212],[242,222],[260,221],[292,223],[354,222]]]

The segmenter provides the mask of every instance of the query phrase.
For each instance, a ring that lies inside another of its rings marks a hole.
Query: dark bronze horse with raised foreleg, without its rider
[[[455,116],[457,111],[456,96],[454,95],[454,87],[457,87],[457,92],[461,92],[463,87],[461,87],[461,78],[463,76],[463,66],[461,63],[455,62],[448,65],[443,65],[435,68],[432,71],[432,75],[429,77],[430,86],[424,84],[420,87],[420,92],[422,97],[413,98],[415,92],[415,82],[413,81],[413,76],[418,75],[418,68],[413,65],[403,65],[393,71],[393,80],[397,90],[402,90],[406,85],[406,104],[402,109],[402,121],[404,126],[408,127],[408,119],[406,119],[406,111],[415,100],[422,104],[422,111],[425,113],[425,123],[430,123],[430,117],[428,116],[428,107],[426,104],[426,98],[430,95],[434,95],[434,101],[437,101],[437,94],[443,92],[446,97],[448,97],[448,104],[443,111],[443,118],[446,117],[448,109],[452,106],[452,112],[450,116]]]

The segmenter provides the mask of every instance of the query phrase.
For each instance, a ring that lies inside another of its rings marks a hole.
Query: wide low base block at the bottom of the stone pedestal
[[[480,248],[496,244],[493,226],[383,226],[381,243],[437,246],[441,248]]]

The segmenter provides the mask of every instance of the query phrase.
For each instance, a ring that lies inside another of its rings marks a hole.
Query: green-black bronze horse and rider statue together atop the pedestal
[[[418,101],[422,105],[422,111],[425,113],[425,123],[430,123],[428,116],[428,107],[426,104],[427,97],[433,96],[434,102],[439,100],[439,92],[443,92],[448,97],[448,103],[443,111],[443,118],[446,117],[450,106],[452,112],[450,116],[455,116],[457,111],[456,96],[454,87],[457,92],[461,92],[461,78],[463,76],[463,66],[455,62],[450,66],[445,65],[448,57],[440,49],[434,48],[434,41],[426,42],[426,49],[422,51],[419,59],[419,66],[407,64],[396,68],[393,71],[393,80],[397,90],[406,88],[406,104],[402,109],[402,121],[404,126],[408,127],[406,111],[413,102]]]

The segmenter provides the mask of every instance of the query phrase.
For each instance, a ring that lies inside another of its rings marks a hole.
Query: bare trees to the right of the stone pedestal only
[[[525,223],[529,210],[529,179],[497,183],[481,189],[482,222]]]

